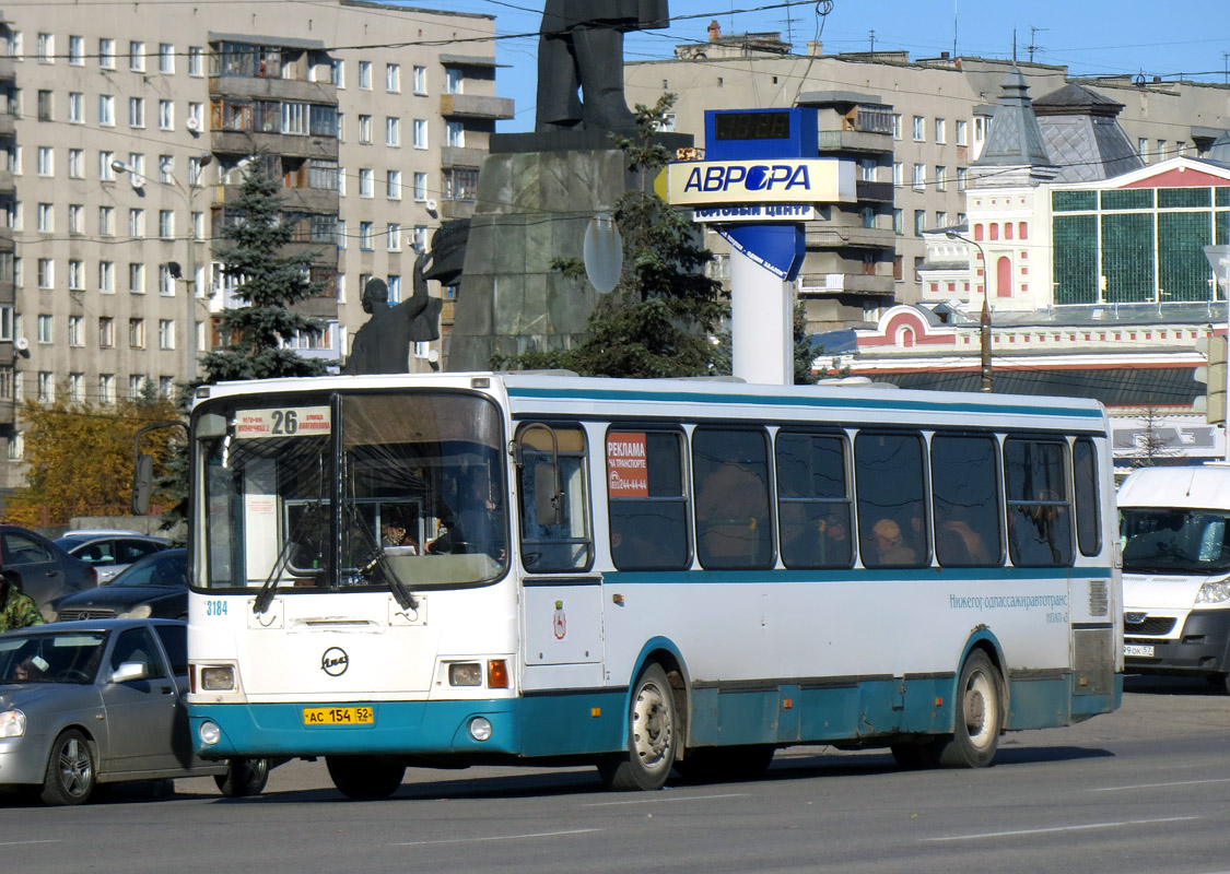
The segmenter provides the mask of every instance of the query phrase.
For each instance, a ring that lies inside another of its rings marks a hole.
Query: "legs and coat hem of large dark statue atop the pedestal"
[[[624,97],[624,32],[669,21],[667,0],[546,0],[535,130],[635,130]]]

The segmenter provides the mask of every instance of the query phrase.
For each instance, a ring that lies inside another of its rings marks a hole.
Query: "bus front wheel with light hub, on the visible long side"
[[[670,776],[679,745],[674,692],[661,665],[649,665],[632,687],[627,714],[627,752],[601,758],[598,773],[608,789],[661,789]]]

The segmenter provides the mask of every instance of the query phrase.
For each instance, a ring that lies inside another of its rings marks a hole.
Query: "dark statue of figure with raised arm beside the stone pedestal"
[[[427,293],[423,274],[430,254],[415,259],[415,293],[401,304],[389,306],[389,286],[371,279],[363,289],[363,311],[371,313],[355,333],[347,374],[408,374],[413,343],[439,339],[443,301]]]

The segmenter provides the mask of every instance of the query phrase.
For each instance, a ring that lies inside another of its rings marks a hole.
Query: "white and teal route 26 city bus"
[[[207,756],[595,763],[656,789],[797,744],[990,765],[1122,698],[1096,402],[547,374],[198,390]]]

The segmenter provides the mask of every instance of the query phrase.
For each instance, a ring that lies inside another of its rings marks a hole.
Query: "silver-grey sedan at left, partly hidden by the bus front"
[[[213,774],[229,797],[264,789],[264,758],[207,761],[188,731],[188,626],[54,622],[0,634],[0,783],[82,804],[100,783]]]

